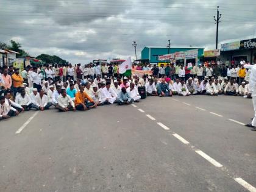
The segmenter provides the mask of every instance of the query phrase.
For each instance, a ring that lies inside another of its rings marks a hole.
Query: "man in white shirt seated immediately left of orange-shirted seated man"
[[[76,107],[74,106],[73,99],[66,94],[66,90],[62,89],[60,91],[60,96],[58,98],[58,105],[60,112],[68,112],[69,110],[76,111]]]

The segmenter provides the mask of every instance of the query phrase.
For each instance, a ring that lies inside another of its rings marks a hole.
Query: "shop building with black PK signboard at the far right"
[[[241,59],[249,63],[256,63],[256,38],[243,40],[230,40],[221,43],[222,61],[234,60],[235,64],[240,63]]]

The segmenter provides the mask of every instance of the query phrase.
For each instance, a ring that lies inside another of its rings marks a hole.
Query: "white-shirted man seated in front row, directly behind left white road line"
[[[21,107],[24,108],[24,110],[29,111],[30,108],[35,108],[36,110],[39,110],[39,107],[37,105],[35,105],[34,103],[32,103],[30,97],[28,94],[26,94],[26,91],[23,89],[21,89],[21,94],[19,94],[18,96],[16,96],[15,98],[15,102],[18,105],[21,105]]]

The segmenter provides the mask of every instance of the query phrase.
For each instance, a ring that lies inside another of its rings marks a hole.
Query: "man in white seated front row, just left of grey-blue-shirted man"
[[[106,82],[106,86],[101,90],[102,104],[113,104],[116,101],[117,95],[110,85],[110,82]]]

